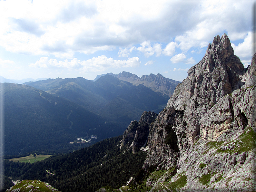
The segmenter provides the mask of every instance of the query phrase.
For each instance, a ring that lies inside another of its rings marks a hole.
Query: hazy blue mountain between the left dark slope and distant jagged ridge
[[[102,116],[109,122],[102,128],[108,137],[122,134],[132,120],[140,119],[144,110],[160,112],[169,99],[160,92],[143,85],[132,85],[111,75],[102,76],[95,82],[79,77],[25,84],[64,97]]]

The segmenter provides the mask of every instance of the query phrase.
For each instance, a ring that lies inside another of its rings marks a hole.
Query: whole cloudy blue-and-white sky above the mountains
[[[252,57],[252,0],[0,0],[0,75],[131,72],[182,81],[214,36]]]

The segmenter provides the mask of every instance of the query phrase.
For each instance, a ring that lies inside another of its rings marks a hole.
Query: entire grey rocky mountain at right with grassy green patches
[[[256,190],[255,61],[244,68],[228,36],[214,37],[149,127],[143,168],[176,168],[169,182],[148,179],[152,191],[181,180],[182,191]]]

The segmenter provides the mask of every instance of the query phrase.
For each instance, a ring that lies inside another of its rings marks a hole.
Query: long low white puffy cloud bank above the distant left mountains
[[[107,58],[105,55],[101,55],[86,61],[80,61],[77,58],[74,58],[71,61],[66,59],[59,62],[56,59],[41,57],[38,61],[34,64],[30,64],[29,66],[38,68],[67,68],[69,70],[80,69],[85,72],[96,72],[104,71],[107,68],[139,67],[140,63],[141,61],[138,57],[132,57],[128,60],[114,60],[112,57]]]

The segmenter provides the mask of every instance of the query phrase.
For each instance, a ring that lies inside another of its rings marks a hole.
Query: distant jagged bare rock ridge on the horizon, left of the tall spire
[[[117,75],[113,73],[107,74],[112,75],[120,80],[130,82],[133,85],[143,84],[148,88],[151,88],[155,91],[159,91],[162,94],[167,94],[168,96],[171,96],[173,91],[175,90],[175,87],[179,83],[181,83],[172,79],[165,78],[159,73],[157,75],[154,75],[152,73],[150,75],[143,75],[141,78],[135,74],[124,71]]]

